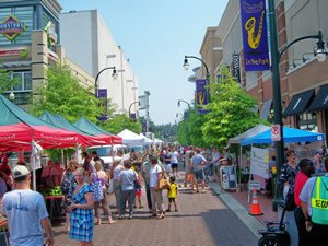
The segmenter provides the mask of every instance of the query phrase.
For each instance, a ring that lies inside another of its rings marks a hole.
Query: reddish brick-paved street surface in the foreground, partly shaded
[[[113,196],[110,200],[114,204]],[[166,213],[164,220],[150,218],[148,210],[142,209],[134,212],[132,220],[95,225],[94,245],[256,245],[255,235],[211,189],[206,194],[192,194],[189,188],[180,188],[178,207],[178,212]],[[55,224],[54,230],[55,245],[79,245],[68,239],[63,223]]]

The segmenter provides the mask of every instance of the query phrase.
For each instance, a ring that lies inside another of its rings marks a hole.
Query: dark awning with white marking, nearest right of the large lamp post
[[[313,89],[294,95],[289,106],[284,110],[283,117],[303,114],[304,110],[307,109],[311,101],[313,99],[314,93],[315,91]]]

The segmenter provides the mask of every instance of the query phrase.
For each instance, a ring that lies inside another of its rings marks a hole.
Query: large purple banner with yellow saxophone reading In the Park
[[[245,71],[270,70],[266,0],[241,0]]]

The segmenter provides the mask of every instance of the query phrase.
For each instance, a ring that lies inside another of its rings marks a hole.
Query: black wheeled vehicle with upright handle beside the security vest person
[[[266,222],[267,230],[259,230],[262,237],[258,241],[258,246],[290,246],[291,238],[286,231],[286,224],[283,222],[285,214],[285,207],[283,206],[281,219],[279,222]]]

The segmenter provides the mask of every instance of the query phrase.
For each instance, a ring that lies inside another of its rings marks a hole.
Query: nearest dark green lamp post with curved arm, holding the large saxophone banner
[[[283,147],[283,122],[282,122],[282,107],[281,107],[281,89],[280,89],[280,70],[279,63],[282,55],[288,50],[292,45],[304,40],[304,39],[318,39],[317,50],[315,50],[316,58],[319,62],[325,61],[327,51],[325,50],[325,43],[323,42],[321,32],[318,35],[311,35],[300,37],[281,50],[278,46],[278,28],[277,28],[277,16],[274,9],[274,1],[268,1],[269,5],[269,22],[270,22],[270,45],[271,45],[271,73],[272,73],[272,101],[273,101],[273,124],[280,126],[281,138],[279,141],[274,142],[276,147],[276,160],[277,160],[277,169],[280,172],[281,165],[284,162],[284,147]],[[277,204],[283,202],[282,190],[276,185],[276,191],[273,197],[273,208]]]

